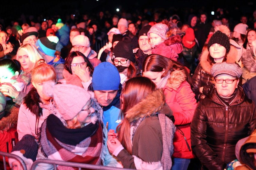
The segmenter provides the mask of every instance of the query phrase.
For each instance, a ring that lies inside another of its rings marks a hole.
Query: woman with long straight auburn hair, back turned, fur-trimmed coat
[[[120,98],[123,120],[117,134],[108,133],[109,151],[124,168],[171,169],[176,128],[167,117],[172,111],[163,110],[163,90],[146,77],[136,77],[126,81]]]

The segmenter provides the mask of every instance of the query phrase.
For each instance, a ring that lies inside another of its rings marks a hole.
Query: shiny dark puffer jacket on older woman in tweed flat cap
[[[254,102],[241,86],[234,101],[225,106],[212,86],[209,95],[199,101],[191,122],[191,148],[204,169],[223,170],[236,159],[237,141],[249,136],[256,127]]]

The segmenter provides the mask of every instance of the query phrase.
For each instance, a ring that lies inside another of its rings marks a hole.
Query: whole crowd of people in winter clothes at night
[[[256,169],[256,10],[99,16],[0,25],[0,151],[27,169]]]

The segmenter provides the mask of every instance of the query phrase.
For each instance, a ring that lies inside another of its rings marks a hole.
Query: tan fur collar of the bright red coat
[[[177,90],[179,86],[186,81],[187,75],[185,70],[175,70],[171,72],[171,77],[168,79],[166,87]]]

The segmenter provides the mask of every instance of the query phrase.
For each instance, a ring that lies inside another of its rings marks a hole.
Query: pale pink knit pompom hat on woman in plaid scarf
[[[64,120],[73,119],[91,99],[90,92],[73,84],[54,85],[47,82],[43,84],[43,90],[47,95],[53,96],[57,110]]]

